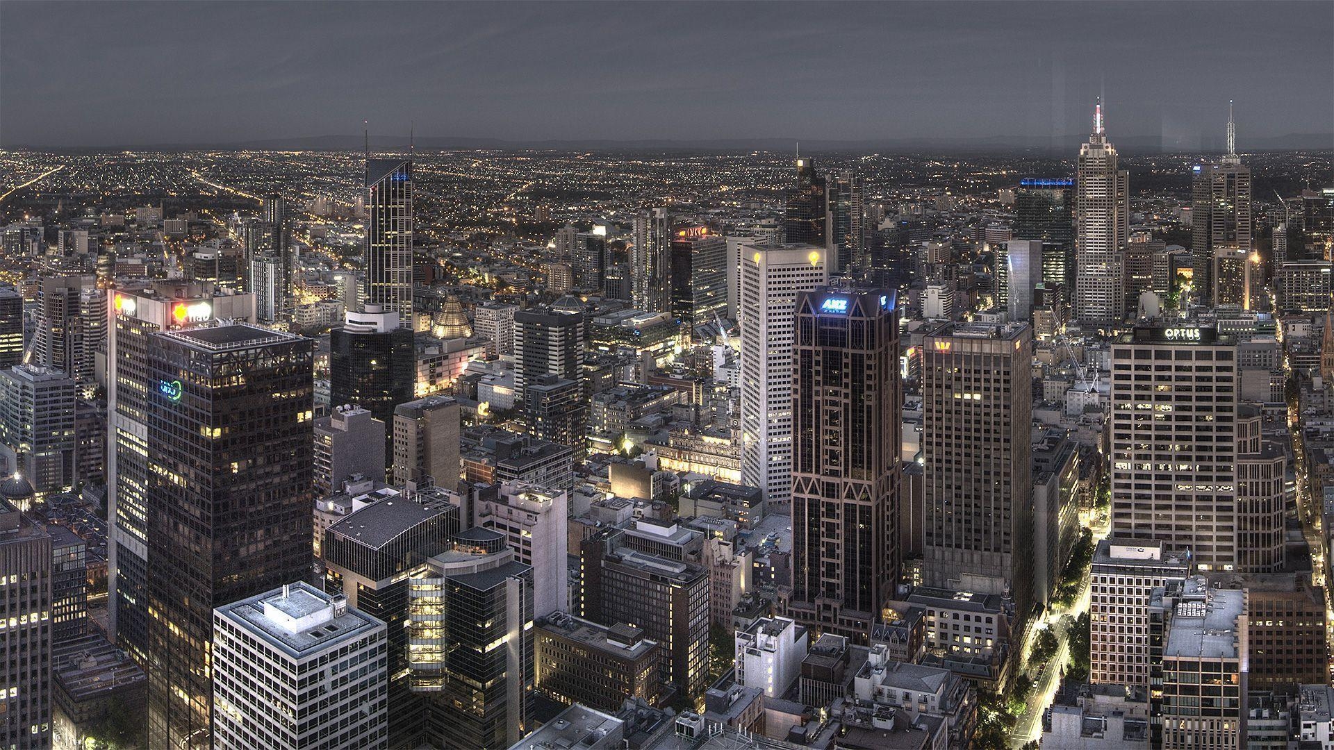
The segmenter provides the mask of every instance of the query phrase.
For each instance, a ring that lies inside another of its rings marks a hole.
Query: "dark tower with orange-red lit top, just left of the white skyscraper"
[[[727,240],[708,227],[679,228],[671,238],[671,314],[684,336],[727,314]]]

